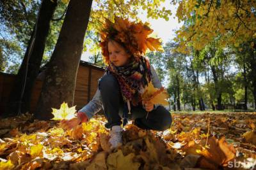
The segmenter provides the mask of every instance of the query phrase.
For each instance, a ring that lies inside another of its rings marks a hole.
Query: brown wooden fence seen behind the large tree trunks
[[[94,96],[97,87],[98,80],[104,74],[104,69],[88,62],[80,62],[77,79],[76,89],[74,97],[74,105],[76,110],[83,108],[92,97]],[[15,81],[14,74],[0,73],[0,115],[6,111],[6,106],[9,101],[10,92]],[[33,113],[36,109],[37,101],[40,97],[43,81],[37,79],[32,90],[32,96],[30,101],[30,111]]]

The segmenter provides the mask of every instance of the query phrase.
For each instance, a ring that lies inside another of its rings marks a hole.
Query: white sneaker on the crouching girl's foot
[[[120,125],[114,125],[109,134],[109,143],[111,144],[111,149],[122,145],[122,127]]]

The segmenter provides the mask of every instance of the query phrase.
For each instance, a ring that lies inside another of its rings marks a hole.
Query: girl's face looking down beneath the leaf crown
[[[122,67],[129,64],[129,53],[125,52],[125,48],[116,43],[116,41],[108,42],[108,52],[110,62],[116,67]]]

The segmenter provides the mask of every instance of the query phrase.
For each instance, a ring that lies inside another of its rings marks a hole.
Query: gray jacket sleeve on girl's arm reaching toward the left
[[[98,113],[101,108],[102,108],[102,99],[100,96],[100,90],[98,88],[95,95],[93,96],[93,99],[79,111],[83,112],[88,118],[88,120],[90,120],[90,118],[92,118],[93,115]]]

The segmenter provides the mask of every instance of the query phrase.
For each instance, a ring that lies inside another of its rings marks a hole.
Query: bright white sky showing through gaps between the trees
[[[175,17],[177,6],[171,5],[170,0],[166,0],[166,2],[162,3],[161,8],[163,6],[165,6],[166,10],[172,11],[172,16],[168,21],[164,20],[163,18],[158,18],[157,20],[151,18],[148,19],[147,13],[142,10],[139,12],[139,18],[142,22],[148,22],[151,29],[154,30],[154,34],[156,34],[158,38],[161,38],[163,44],[165,44],[175,37],[175,30],[179,29],[182,24],[179,23],[177,17]],[[88,61],[88,56],[90,55],[90,52],[84,52],[81,56],[81,60]]]

